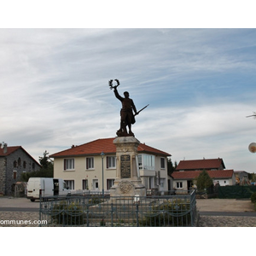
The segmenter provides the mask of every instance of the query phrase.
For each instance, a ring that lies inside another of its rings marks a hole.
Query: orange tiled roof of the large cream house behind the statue
[[[84,143],[82,145],[75,146],[73,148],[68,148],[66,150],[63,150],[55,154],[51,154],[49,155],[49,157],[57,158],[57,157],[67,157],[67,156],[94,155],[94,154],[101,154],[102,152],[104,152],[104,154],[115,154],[116,148],[115,148],[115,145],[113,144],[114,139],[115,139],[114,137],[97,139],[90,143]],[[150,154],[171,156],[171,154],[168,154],[156,148],[149,147],[144,143],[140,143],[137,150],[139,153],[150,153]]]

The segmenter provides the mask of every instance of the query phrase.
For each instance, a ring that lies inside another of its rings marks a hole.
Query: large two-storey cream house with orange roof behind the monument
[[[63,178],[73,190],[108,190],[116,177],[114,138],[96,139],[51,154],[54,177]],[[140,143],[138,148],[140,177],[146,189],[168,190],[167,157],[164,151]],[[102,154],[103,153],[103,154]],[[103,172],[103,183],[102,183]]]

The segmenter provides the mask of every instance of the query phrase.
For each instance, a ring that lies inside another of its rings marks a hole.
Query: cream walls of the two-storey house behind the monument
[[[104,190],[109,189],[109,185],[116,177],[116,168],[107,168],[107,158],[114,155],[105,155],[103,158],[103,172],[104,172]],[[93,158],[93,166],[90,168],[86,165],[86,158]],[[162,157],[163,158],[163,157]],[[142,182],[146,189],[154,188],[157,182],[157,187],[164,191],[168,190],[167,186],[167,158],[160,160],[160,156],[154,157],[154,170],[144,170],[143,166],[140,169]],[[66,160],[66,168],[64,164]],[[67,164],[68,162],[68,164]],[[164,162],[164,163],[163,163]],[[161,168],[162,167],[162,168]],[[155,172],[160,173],[155,177]],[[159,171],[159,172],[158,172]],[[54,177],[63,178],[70,189],[82,190],[83,183],[87,183],[87,188],[90,190],[102,190],[102,157],[101,155],[92,156],[76,156],[67,158],[55,158],[54,160]],[[155,180],[157,178],[157,180]],[[86,182],[85,182],[86,181]],[[149,184],[150,183],[150,184]]]

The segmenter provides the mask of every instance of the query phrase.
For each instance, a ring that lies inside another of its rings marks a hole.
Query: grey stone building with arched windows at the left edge
[[[39,171],[39,163],[21,146],[0,148],[0,195],[12,195],[21,173]]]

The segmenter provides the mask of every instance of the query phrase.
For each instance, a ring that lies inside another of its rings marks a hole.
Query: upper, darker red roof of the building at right
[[[181,160],[176,170],[203,170],[203,169],[218,169],[224,166],[224,161],[221,158],[217,159],[203,159],[203,160]]]

